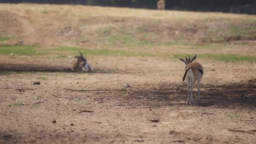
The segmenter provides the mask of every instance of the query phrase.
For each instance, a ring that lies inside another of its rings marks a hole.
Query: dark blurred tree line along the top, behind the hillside
[[[54,3],[132,8],[157,8],[158,0],[0,0],[0,3]],[[165,0],[165,8],[187,11],[221,11],[256,14],[256,0]]]

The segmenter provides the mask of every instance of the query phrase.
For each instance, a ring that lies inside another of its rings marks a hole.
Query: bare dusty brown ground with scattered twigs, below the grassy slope
[[[98,73],[0,75],[0,142],[256,141],[256,67],[248,68],[250,62],[202,61],[202,104],[187,106],[186,84],[181,83],[184,65],[180,61],[138,57],[119,57],[116,62],[105,57],[99,61]],[[116,66],[119,69],[114,69]],[[39,79],[42,76],[44,80]],[[36,81],[41,84],[33,85]],[[131,88],[126,88],[127,84]],[[44,102],[35,104],[38,101]],[[93,112],[79,113],[83,110]],[[148,120],[152,118],[160,121],[152,123]]]

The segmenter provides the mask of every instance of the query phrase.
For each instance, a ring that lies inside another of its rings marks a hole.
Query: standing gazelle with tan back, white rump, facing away
[[[187,104],[189,104],[189,91],[190,91],[190,103],[193,103],[193,88],[195,85],[195,82],[197,81],[197,91],[198,91],[198,96],[199,96],[199,100],[198,102],[201,103],[201,99],[200,99],[200,78],[203,76],[203,67],[201,64],[197,63],[197,62],[193,62],[196,59],[197,55],[195,55],[192,59],[181,59],[179,58],[179,60],[183,61],[186,64],[185,67],[185,74],[183,76],[182,81],[184,81],[186,79],[187,81]]]

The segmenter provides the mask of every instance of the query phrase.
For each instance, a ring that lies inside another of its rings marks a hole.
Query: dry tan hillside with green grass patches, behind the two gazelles
[[[61,57],[81,49],[107,56],[198,53],[206,58],[253,61],[256,56],[256,16],[82,5],[0,7],[1,54]]]

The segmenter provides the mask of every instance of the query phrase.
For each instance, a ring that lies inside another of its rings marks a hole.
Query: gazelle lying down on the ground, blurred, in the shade
[[[77,61],[74,64],[75,71],[88,71],[88,72],[93,71],[93,68],[90,66],[88,61],[82,55],[81,51],[80,51],[80,56],[74,56],[74,57],[77,58]]]

